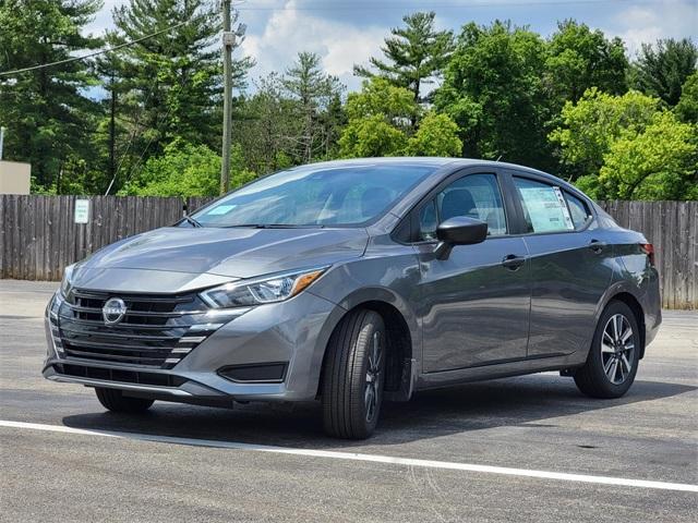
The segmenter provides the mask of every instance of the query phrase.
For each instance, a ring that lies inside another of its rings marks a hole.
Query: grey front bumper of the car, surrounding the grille
[[[215,330],[171,368],[158,368],[68,355],[61,348],[56,300],[60,299],[51,300],[46,314],[48,356],[44,377],[141,397],[204,403],[314,399],[325,346],[344,315],[341,307],[305,291],[286,302],[249,309]],[[273,382],[234,381],[219,374],[230,367],[267,365],[282,365],[282,378]]]

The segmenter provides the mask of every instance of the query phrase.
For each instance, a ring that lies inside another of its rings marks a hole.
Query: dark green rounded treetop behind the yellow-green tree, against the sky
[[[547,45],[546,83],[561,105],[577,101],[590,87],[622,95],[628,66],[621,38],[607,39],[574,20],[559,22]]]

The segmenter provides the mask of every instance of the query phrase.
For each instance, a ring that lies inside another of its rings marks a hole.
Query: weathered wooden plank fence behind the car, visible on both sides
[[[104,245],[173,223],[180,198],[91,196],[89,221],[73,221],[75,196],[0,195],[0,277],[59,280]],[[193,210],[210,198],[189,198]],[[618,224],[657,250],[663,306],[698,308],[698,202],[602,202]]]

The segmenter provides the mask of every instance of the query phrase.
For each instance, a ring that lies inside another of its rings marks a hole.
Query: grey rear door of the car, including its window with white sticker
[[[579,198],[547,181],[515,174],[513,182],[530,255],[528,355],[586,351],[597,305],[613,277],[612,247]]]

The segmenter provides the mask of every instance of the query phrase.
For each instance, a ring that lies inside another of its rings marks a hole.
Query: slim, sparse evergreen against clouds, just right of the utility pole
[[[329,109],[344,86],[322,71],[320,57],[313,52],[300,52],[281,82],[289,97],[297,101],[298,118],[302,122],[301,133],[294,137],[298,156],[303,162],[311,162],[317,153],[322,155],[327,150],[332,131],[325,129],[321,114]]]

